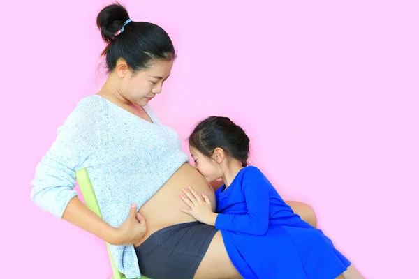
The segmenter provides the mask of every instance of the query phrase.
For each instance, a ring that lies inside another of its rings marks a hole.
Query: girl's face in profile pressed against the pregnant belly
[[[189,146],[189,151],[195,163],[195,168],[202,174],[208,182],[216,181],[221,178],[221,168],[212,158],[200,153],[196,148]]]

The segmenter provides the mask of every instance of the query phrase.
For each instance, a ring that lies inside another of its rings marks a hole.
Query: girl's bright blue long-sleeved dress
[[[245,279],[335,279],[351,262],[304,222],[256,167],[215,192],[228,256]]]

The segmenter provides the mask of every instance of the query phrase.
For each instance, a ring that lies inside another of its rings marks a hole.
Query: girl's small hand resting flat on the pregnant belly
[[[189,214],[200,223],[215,226],[215,220],[217,214],[212,212],[212,205],[210,199],[202,193],[202,197],[196,193],[193,188],[189,187],[189,190],[182,189],[183,194],[180,198],[184,201],[190,209],[181,208],[180,211]]]

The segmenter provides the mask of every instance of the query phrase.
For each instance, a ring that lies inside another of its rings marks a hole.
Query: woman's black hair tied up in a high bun
[[[96,24],[108,43],[101,55],[106,56],[109,72],[114,70],[119,58],[133,70],[147,68],[155,59],[172,61],[176,58],[175,47],[166,31],[149,22],[132,21],[124,26],[129,19],[126,8],[120,3],[106,6],[98,14]]]

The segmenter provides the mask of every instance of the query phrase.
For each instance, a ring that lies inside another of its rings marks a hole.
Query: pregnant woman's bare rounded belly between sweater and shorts
[[[205,193],[211,200],[212,210],[215,210],[215,196],[209,183],[198,170],[185,163],[141,207],[140,214],[147,221],[147,234],[140,243],[135,243],[135,246],[140,245],[151,234],[159,229],[163,229],[163,227],[196,221],[188,214],[179,211],[181,207],[188,209],[188,206],[179,198],[179,195],[182,193],[182,188],[188,188],[189,186],[195,189],[199,195]]]

